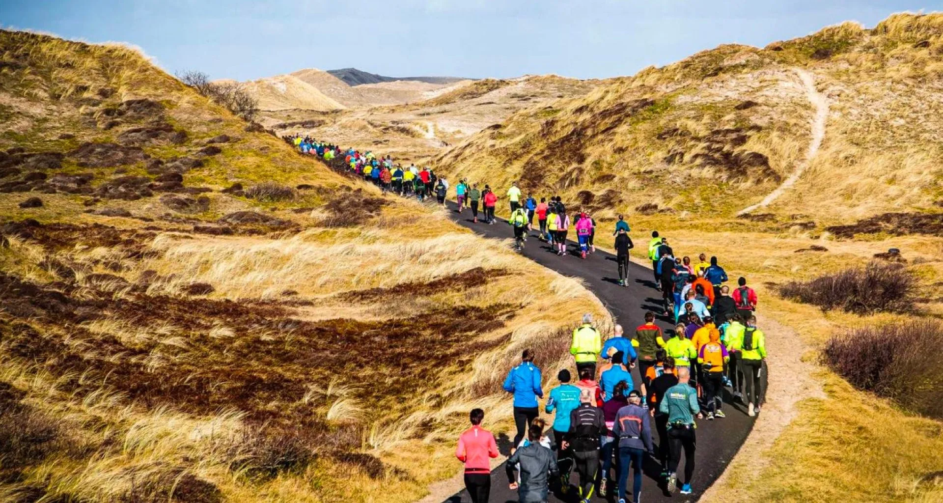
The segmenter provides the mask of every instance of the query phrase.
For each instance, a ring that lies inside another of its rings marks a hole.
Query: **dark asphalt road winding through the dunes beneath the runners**
[[[471,210],[459,215],[455,209],[455,203],[449,202],[449,215],[461,226],[473,229],[475,232],[488,238],[513,239],[514,232],[511,226],[504,220],[491,226],[488,224],[473,224]],[[603,231],[604,232],[604,231]],[[537,232],[531,232],[530,238],[521,252],[525,257],[538,262],[549,269],[570,276],[582,278],[587,288],[600,300],[603,301],[606,309],[612,313],[616,323],[624,327],[626,333],[633,334],[635,328],[644,322],[643,315],[647,310],[659,311],[661,306],[661,293],[655,290],[653,275],[650,269],[638,264],[630,265],[629,286],[621,287],[618,284],[619,271],[616,265],[616,257],[603,251],[597,251],[591,254],[586,260],[581,260],[579,256],[570,255],[568,257],[558,257],[550,250],[550,246],[542,243],[537,238]],[[648,239],[641,236],[635,236],[636,249],[633,250],[635,256],[644,254],[641,251],[647,246]],[[691,250],[693,253],[695,250]],[[576,322],[578,320],[574,320]],[[669,320],[659,319],[659,325],[662,329],[671,327]],[[604,334],[609,335],[609,334]],[[557,369],[543,369],[545,376],[556,375]],[[633,371],[636,380],[636,386],[641,382],[637,369]],[[553,383],[554,381],[551,380]],[[548,386],[548,390],[555,384]],[[730,395],[725,391],[724,411],[727,412],[725,419],[714,421],[701,420],[697,425],[697,455],[695,462],[694,480],[692,487],[693,495],[678,495],[677,493],[670,497],[664,494],[663,487],[659,487],[658,478],[659,465],[649,460],[645,466],[645,478],[643,482],[642,494],[644,501],[674,501],[689,502],[696,501],[710,484],[720,477],[727,464],[733,459],[740,444],[746,440],[747,435],[753,428],[753,418],[746,414],[745,407],[741,404],[731,405]],[[508,397],[510,399],[510,397]],[[657,442],[657,433],[652,432]],[[684,464],[679,466],[679,473],[683,473]],[[631,473],[630,473],[631,481]],[[574,473],[571,478],[572,483],[576,483],[577,476]],[[679,481],[679,487],[680,487]],[[661,484],[663,486],[663,484]],[[631,499],[631,494],[628,495]],[[608,495],[609,501],[614,501],[613,495]],[[507,488],[507,478],[505,477],[505,467],[502,464],[498,469],[491,473],[491,502],[505,503],[517,501],[516,492]],[[603,498],[596,497],[597,501],[604,501]],[[471,502],[468,493],[461,492],[446,500],[445,503],[468,503]],[[551,502],[566,501],[575,502],[578,498],[572,495],[569,499],[560,499],[557,495],[551,495]]]

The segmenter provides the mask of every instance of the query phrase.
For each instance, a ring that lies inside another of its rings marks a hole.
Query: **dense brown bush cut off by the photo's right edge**
[[[943,323],[914,319],[864,327],[828,341],[823,360],[857,388],[943,419]]]

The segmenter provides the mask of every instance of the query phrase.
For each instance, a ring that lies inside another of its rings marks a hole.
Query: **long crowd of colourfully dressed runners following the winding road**
[[[285,140],[303,154],[317,155],[333,166],[339,165],[334,159],[343,159],[343,169],[385,192],[420,201],[435,194],[439,204],[445,203],[449,193],[448,181],[428,167],[403,168],[389,156],[376,158],[369,151],[341,150],[300,136]],[[455,184],[457,210],[471,210],[475,223],[483,210],[483,222],[493,225],[498,196],[487,184],[481,185],[479,189],[479,184],[465,179]],[[585,259],[587,253],[595,252],[597,225],[587,212],[573,212],[571,219],[560,196],[540,197],[538,202],[530,194],[524,197],[517,184],[505,195],[510,207],[507,222],[514,226],[518,248],[537,230],[538,239],[549,243],[558,255],[568,255],[568,231],[573,227],[578,254]],[[627,286],[629,250],[635,247],[630,230],[620,215],[613,234],[623,286]],[[503,387],[513,395],[517,433],[505,470],[509,487],[518,491],[521,503],[545,502],[551,491],[562,495],[576,491],[587,503],[594,494],[615,495],[619,503],[638,503],[642,467],[648,457],[662,467],[661,478],[669,494],[678,490],[677,470],[683,459],[680,493],[689,495],[696,420],[726,417],[722,406],[728,389],[729,403],[743,403],[750,416],[759,413],[765,400],[766,337],[756,326],[757,297],[746,278],[739,277],[731,291],[716,257],[708,261],[702,253],[692,263],[690,257],[676,254],[657,231],[648,243],[647,258],[652,260],[655,288],[662,293],[662,312],[645,312],[644,322],[633,334],[617,325],[605,341],[592,317],[584,315],[572,332],[570,352],[576,376],[571,369],[559,370],[559,385],[546,394],[543,411],[554,414],[551,428],[539,417],[539,400],[545,393],[541,371],[534,364],[535,352],[524,350],[521,363],[507,374]],[[674,328],[658,327],[657,314],[673,321]],[[636,369],[638,388],[632,375]],[[455,450],[465,465],[472,503],[488,502],[489,460],[499,456],[494,436],[481,427],[484,417],[481,409],[471,411],[472,427],[461,434]],[[571,487],[574,470],[575,488]]]

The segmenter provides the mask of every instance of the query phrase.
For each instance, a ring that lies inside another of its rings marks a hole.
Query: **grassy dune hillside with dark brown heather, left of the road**
[[[0,31],[0,117],[2,501],[412,501],[605,316],[122,46]]]

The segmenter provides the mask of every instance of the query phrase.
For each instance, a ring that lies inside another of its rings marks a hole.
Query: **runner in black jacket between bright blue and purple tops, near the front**
[[[576,461],[576,472],[580,475],[580,498],[583,501],[589,501],[592,497],[596,472],[599,471],[600,439],[608,432],[603,410],[593,405],[595,401],[596,397],[589,390],[583,390],[580,406],[570,412],[570,431],[564,442],[564,448],[571,448]],[[569,477],[564,479],[564,488],[569,483]]]

